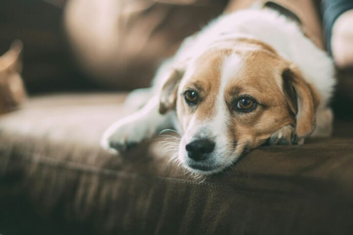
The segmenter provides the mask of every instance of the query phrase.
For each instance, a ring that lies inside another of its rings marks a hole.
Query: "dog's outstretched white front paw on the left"
[[[114,154],[126,152],[146,138],[145,128],[141,123],[119,121],[104,132],[101,147]]]

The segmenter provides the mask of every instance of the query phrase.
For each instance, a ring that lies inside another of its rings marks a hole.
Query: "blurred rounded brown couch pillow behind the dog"
[[[98,83],[146,87],[158,65],[221,13],[225,2],[70,0],[65,26],[79,63]]]

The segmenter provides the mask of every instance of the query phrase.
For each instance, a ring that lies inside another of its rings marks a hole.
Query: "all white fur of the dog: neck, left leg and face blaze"
[[[318,129],[314,134],[328,135],[330,131],[323,130],[327,130],[328,127],[325,127],[329,126],[332,121],[332,112],[327,108],[327,104],[332,97],[335,85],[333,62],[324,51],[318,49],[310,39],[303,35],[295,22],[272,10],[242,10],[218,17],[201,32],[184,40],[177,54],[168,60],[157,73],[155,78],[156,87],[160,87],[160,84],[163,84],[163,71],[166,68],[175,64],[185,64],[185,61],[189,61],[184,75],[184,78],[186,78],[195,69],[193,59],[203,53],[205,49],[221,40],[239,37],[257,39],[267,43],[284,59],[298,66],[306,81],[311,83],[318,91],[321,101],[317,110]],[[192,130],[186,131],[187,134],[183,136],[181,146],[185,146],[196,134],[209,134],[208,128],[217,132],[217,138],[219,138],[217,144],[226,143],[226,141],[222,140],[222,138],[225,138],[225,122],[228,119],[223,92],[229,80],[234,78],[232,75],[237,73],[240,66],[241,59],[239,57],[233,55],[225,58],[216,115],[207,123],[196,123],[195,120],[191,120],[189,127]],[[158,96],[153,97],[142,110],[108,128],[102,138],[102,147],[109,149],[109,143],[111,142],[125,145],[128,142],[140,142],[142,139],[149,138],[158,129],[171,125],[172,115],[174,114],[160,115],[158,113]],[[327,121],[326,117],[330,120]],[[226,148],[220,145],[215,151],[217,154],[227,155],[225,150],[222,151],[222,149]],[[179,155],[182,162],[186,161],[185,154],[185,150],[181,148]],[[228,163],[220,162],[222,161],[220,158],[217,158],[217,160],[219,161],[218,163]],[[201,173],[197,170],[193,171]]]

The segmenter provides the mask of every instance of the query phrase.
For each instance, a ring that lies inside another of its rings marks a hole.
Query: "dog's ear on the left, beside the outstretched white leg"
[[[165,72],[166,78],[164,78],[164,84],[160,94],[159,112],[161,114],[175,108],[179,82],[183,75],[184,69],[173,68]]]

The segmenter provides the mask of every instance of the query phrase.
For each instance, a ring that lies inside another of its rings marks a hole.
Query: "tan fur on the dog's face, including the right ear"
[[[175,96],[178,98],[177,114],[184,131],[191,119],[203,122],[215,115],[223,60],[231,54],[242,59],[241,69],[227,84],[223,97],[231,113],[227,136],[229,143],[236,145],[234,153],[241,154],[246,148],[259,146],[269,138],[275,139],[273,144],[279,143],[281,138],[292,144],[294,134],[302,138],[311,133],[315,127],[315,107],[319,103],[315,91],[304,82],[300,71],[281,58],[271,46],[245,38],[214,43],[194,61],[197,69],[187,78],[184,87],[179,87],[178,97]],[[289,72],[290,81],[283,81],[289,79],[282,77],[285,70]],[[290,82],[294,87],[295,98],[290,98],[289,92],[283,90],[284,82]],[[187,89],[194,89],[200,95],[197,107],[190,108],[185,103],[183,91]],[[234,99],[244,94],[259,102],[253,112],[233,110]],[[298,103],[290,99],[298,99]]]

